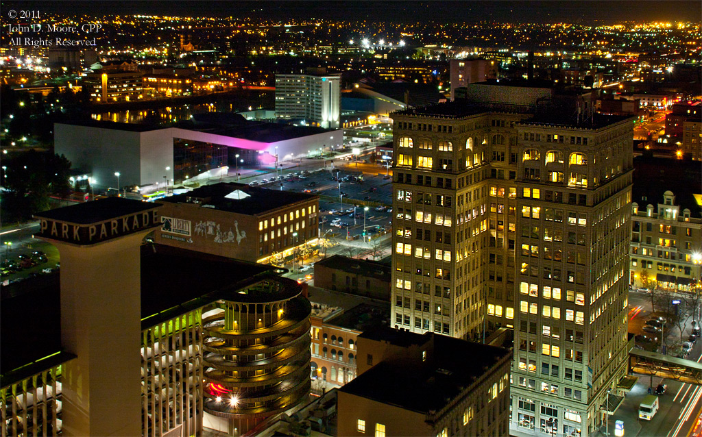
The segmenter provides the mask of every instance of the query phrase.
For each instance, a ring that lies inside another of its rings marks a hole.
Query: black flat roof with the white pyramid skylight
[[[239,197],[243,199],[232,199],[234,196],[226,197],[237,190],[249,196],[239,194]],[[247,184],[237,184],[235,182],[220,182],[219,184],[204,185],[185,194],[159,199],[159,202],[191,203],[201,208],[214,208],[229,213],[259,215],[298,202],[312,201],[318,198],[319,196],[314,194],[249,187]]]

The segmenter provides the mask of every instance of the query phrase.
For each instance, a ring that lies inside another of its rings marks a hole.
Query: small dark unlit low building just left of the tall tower
[[[314,264],[314,285],[380,300],[390,300],[390,266],[334,255]]]

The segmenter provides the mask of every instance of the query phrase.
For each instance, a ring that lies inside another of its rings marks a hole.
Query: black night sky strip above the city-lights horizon
[[[3,1],[10,9],[55,13],[321,18],[397,22],[698,22],[701,1]]]

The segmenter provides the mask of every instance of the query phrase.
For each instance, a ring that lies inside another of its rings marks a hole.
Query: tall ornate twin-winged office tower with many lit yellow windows
[[[625,375],[631,119],[543,84],[467,95],[393,114],[392,321],[514,328],[512,431],[590,433]]]

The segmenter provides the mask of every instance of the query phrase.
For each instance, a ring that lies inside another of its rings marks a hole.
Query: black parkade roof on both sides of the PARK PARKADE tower
[[[222,293],[232,293],[232,289],[239,290],[257,281],[256,275],[265,275],[270,269],[171,246],[142,246],[141,315],[147,319],[143,326],[199,308],[220,298]],[[37,276],[3,287],[2,375],[61,350],[59,277],[60,274]],[[243,295],[237,294],[237,299],[241,300],[240,296]],[[27,323],[28,316],[32,323]]]

